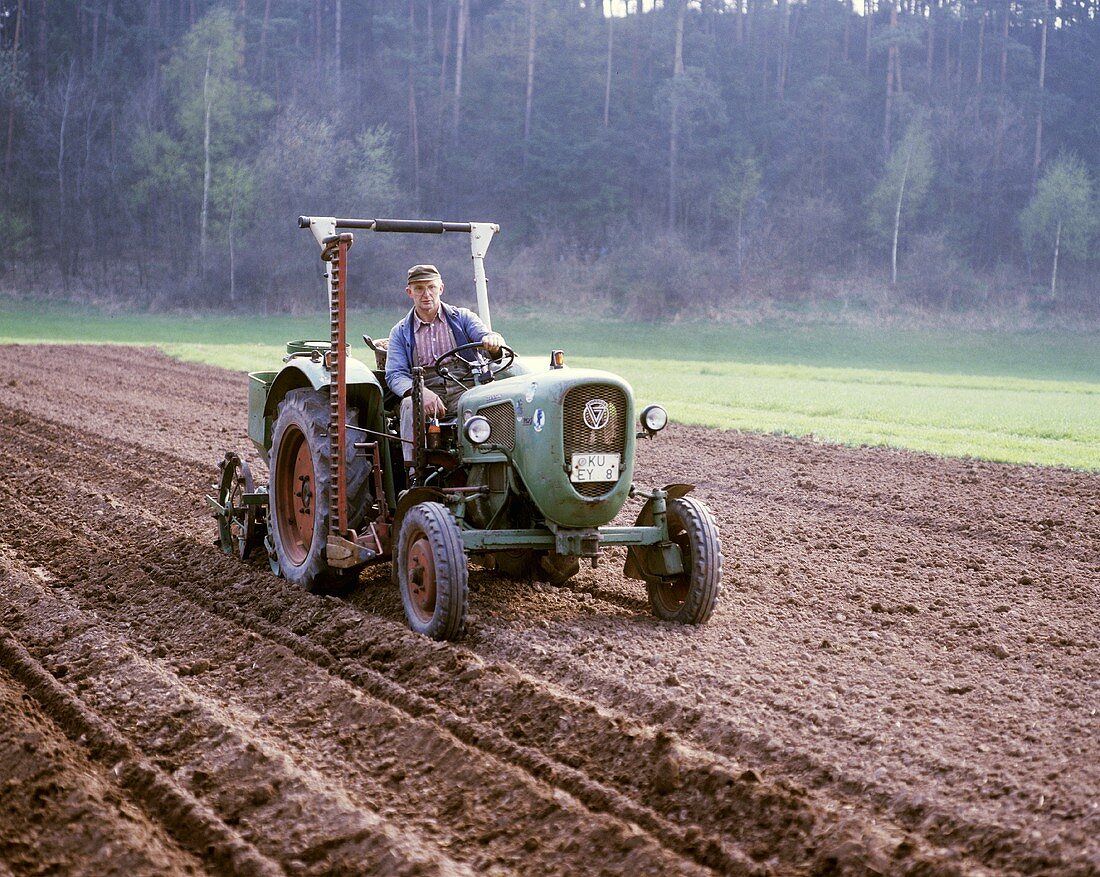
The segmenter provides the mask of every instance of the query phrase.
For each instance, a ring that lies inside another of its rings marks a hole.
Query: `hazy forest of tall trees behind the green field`
[[[0,0],[0,292],[314,309],[316,213],[499,222],[494,297],[524,306],[1096,317],[1098,13]],[[469,272],[436,240],[356,244],[364,305],[413,262]]]

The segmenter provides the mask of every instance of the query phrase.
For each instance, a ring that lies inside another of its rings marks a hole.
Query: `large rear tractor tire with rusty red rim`
[[[354,421],[354,412],[349,420]],[[292,390],[278,405],[272,435],[268,529],[279,573],[314,593],[345,590],[358,578],[334,570],[324,553],[329,534],[329,402],[309,387]],[[355,527],[370,505],[370,464],[349,442],[348,525]]]

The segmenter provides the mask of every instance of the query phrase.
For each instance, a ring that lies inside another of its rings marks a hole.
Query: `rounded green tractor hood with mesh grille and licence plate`
[[[470,390],[459,410],[460,423],[480,414],[492,426],[481,447],[460,438],[463,459],[499,459],[503,448],[548,520],[597,527],[626,502],[634,478],[634,391],[618,375],[563,368],[507,377]]]

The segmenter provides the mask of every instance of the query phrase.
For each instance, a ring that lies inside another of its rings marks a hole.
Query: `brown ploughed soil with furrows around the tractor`
[[[1100,873],[1097,475],[672,427],[708,625],[619,555],[435,644],[211,545],[245,397],[0,348],[0,874]]]

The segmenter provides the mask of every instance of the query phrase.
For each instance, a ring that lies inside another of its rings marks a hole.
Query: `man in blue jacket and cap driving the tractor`
[[[413,369],[425,371],[424,410],[428,417],[454,413],[454,405],[465,392],[461,381],[469,377],[462,360],[455,361],[448,376],[431,366],[438,357],[460,344],[481,342],[490,353],[498,353],[504,338],[491,332],[472,310],[442,302],[443,278],[435,265],[414,265],[408,271],[405,294],[413,300],[409,313],[389,331],[386,342],[386,383],[402,397],[400,430],[405,462],[413,461]],[[455,374],[455,371],[458,373]]]

